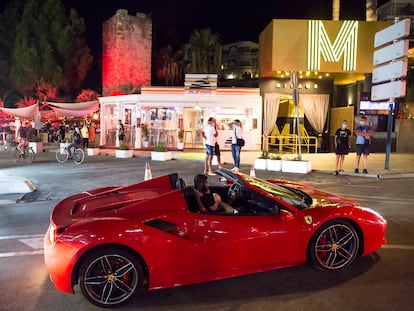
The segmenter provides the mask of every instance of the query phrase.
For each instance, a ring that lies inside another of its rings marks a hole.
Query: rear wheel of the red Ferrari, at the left
[[[79,270],[82,294],[94,305],[106,308],[128,302],[142,288],[143,279],[137,258],[117,248],[89,254]]]

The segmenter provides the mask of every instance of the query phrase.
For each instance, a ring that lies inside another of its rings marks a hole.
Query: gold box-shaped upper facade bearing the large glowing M
[[[390,21],[274,19],[259,36],[261,78],[285,72],[342,75],[363,79],[372,72],[374,35]],[[351,76],[352,75],[352,76]]]

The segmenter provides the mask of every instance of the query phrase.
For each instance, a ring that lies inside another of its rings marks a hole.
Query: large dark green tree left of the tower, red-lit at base
[[[0,28],[0,46],[5,47],[0,54],[0,72],[6,74],[3,85],[41,100],[81,88],[92,56],[83,37],[84,20],[74,9],[67,15],[60,0],[14,0],[0,16],[0,25],[4,24],[7,28]]]

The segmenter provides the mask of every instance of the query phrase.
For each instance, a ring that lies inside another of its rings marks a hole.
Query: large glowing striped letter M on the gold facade
[[[322,21],[308,22],[308,70],[320,70],[321,56],[325,62],[337,63],[344,56],[342,69],[356,70],[358,22],[344,21],[333,44]]]

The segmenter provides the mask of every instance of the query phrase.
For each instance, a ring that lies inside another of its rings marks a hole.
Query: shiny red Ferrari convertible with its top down
[[[205,212],[178,174],[70,196],[54,208],[45,262],[56,288],[93,304],[135,293],[309,262],[328,271],[385,244],[387,222],[303,184],[218,170],[211,192],[233,214]]]

